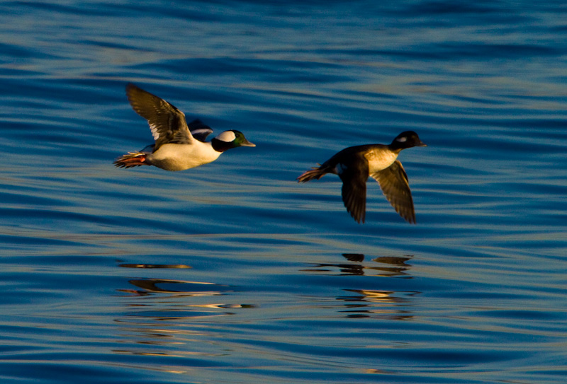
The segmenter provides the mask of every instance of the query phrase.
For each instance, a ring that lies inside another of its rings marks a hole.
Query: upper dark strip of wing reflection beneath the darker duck
[[[342,275],[372,275],[378,277],[405,277],[411,279],[412,277],[408,274],[408,270],[411,268],[410,264],[406,264],[408,260],[412,259],[411,255],[406,255],[403,257],[397,256],[381,256],[372,259],[372,262],[376,264],[358,264],[364,262],[364,255],[361,253],[343,253],[344,257],[352,264],[314,264],[312,268],[302,269],[303,272],[335,272],[335,269],[339,269],[339,274]]]

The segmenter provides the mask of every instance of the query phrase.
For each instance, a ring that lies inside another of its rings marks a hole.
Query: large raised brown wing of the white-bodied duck
[[[185,121],[185,114],[162,98],[152,95],[130,83],[126,95],[135,112],[150,124],[155,148],[163,144],[191,144],[193,136]]]

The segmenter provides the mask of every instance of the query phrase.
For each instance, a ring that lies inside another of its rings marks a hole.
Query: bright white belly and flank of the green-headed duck
[[[186,170],[215,161],[220,152],[210,143],[196,141],[194,144],[164,144],[147,159],[164,170]]]

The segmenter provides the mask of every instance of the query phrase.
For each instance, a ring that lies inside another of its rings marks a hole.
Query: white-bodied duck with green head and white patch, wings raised
[[[132,83],[126,86],[126,95],[133,110],[150,124],[155,144],[142,151],[120,156],[114,162],[117,167],[154,165],[164,170],[186,170],[215,161],[220,153],[228,149],[256,146],[235,129],[225,131],[206,142],[206,137],[213,129],[199,120],[188,125],[185,114],[166,100]]]

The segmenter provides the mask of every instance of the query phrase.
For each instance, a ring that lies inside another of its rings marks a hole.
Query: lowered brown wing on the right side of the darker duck
[[[396,160],[388,168],[373,173],[371,177],[378,182],[383,194],[395,211],[408,223],[415,224],[412,192],[410,191],[408,175],[406,175],[402,163]]]

